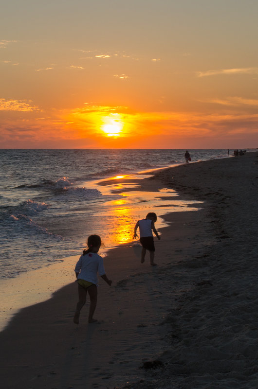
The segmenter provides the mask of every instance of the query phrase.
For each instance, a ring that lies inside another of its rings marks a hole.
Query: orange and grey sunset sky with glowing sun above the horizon
[[[258,146],[257,2],[16,0],[3,11],[0,148]]]

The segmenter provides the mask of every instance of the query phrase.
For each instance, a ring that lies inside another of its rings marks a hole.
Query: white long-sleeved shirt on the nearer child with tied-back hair
[[[97,274],[100,276],[106,274],[103,258],[95,252],[81,255],[74,271],[79,273],[78,279],[80,278],[96,285],[98,284]]]

